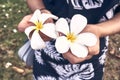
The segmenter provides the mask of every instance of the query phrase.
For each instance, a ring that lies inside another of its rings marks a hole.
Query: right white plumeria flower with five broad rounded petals
[[[76,14],[72,17],[70,26],[64,18],[60,18],[56,22],[56,30],[62,33],[56,39],[55,47],[59,53],[65,53],[68,50],[77,57],[86,57],[88,55],[88,49],[86,46],[93,46],[97,42],[97,38],[93,33],[81,33],[86,27],[87,19]]]

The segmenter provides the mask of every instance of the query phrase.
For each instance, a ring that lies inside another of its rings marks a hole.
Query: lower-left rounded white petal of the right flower
[[[69,43],[65,36],[58,37],[55,42],[56,50],[59,53],[65,53],[69,50]]]

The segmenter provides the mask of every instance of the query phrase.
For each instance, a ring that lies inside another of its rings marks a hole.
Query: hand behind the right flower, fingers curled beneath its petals
[[[79,58],[74,56],[71,51],[69,50],[68,52],[63,54],[63,57],[65,59],[67,59],[70,63],[75,64],[75,63],[80,63],[83,62],[85,60],[88,60],[90,58],[92,58],[93,55],[97,55],[99,54],[99,50],[100,50],[100,44],[99,44],[99,38],[100,38],[100,31],[99,31],[99,27],[96,25],[87,25],[86,28],[82,31],[83,32],[91,32],[93,34],[96,35],[97,37],[97,43],[94,46],[91,47],[87,47],[88,48],[88,56],[85,58]]]

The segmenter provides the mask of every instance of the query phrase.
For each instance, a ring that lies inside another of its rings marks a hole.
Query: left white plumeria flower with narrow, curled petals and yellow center
[[[33,49],[42,49],[45,47],[45,42],[39,35],[39,32],[42,32],[43,34],[51,38],[57,37],[55,31],[55,24],[45,23],[45,21],[48,18],[58,19],[57,16],[47,13],[41,13],[40,10],[37,9],[30,19],[30,22],[34,23],[35,25],[25,29],[25,33],[29,39],[30,39],[30,33],[33,32],[30,39],[31,47]]]

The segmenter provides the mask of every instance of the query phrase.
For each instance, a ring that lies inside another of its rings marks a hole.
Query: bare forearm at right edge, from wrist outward
[[[112,19],[97,24],[100,26],[100,36],[107,36],[120,32],[120,13],[117,13]]]

